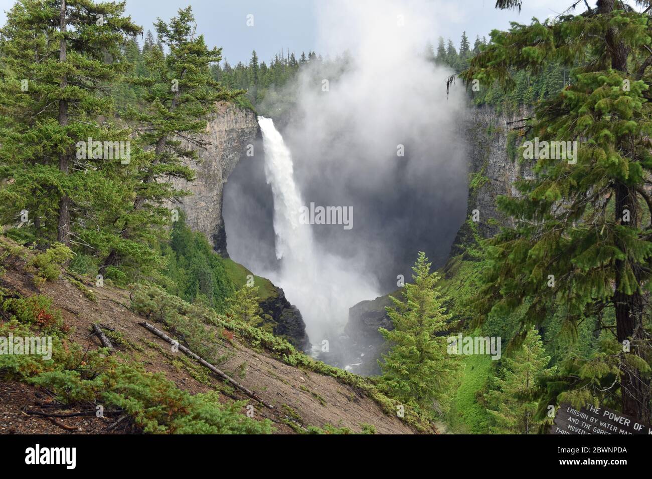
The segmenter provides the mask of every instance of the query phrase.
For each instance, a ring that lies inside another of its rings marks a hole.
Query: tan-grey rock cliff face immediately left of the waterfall
[[[226,233],[222,218],[222,190],[235,165],[246,159],[248,144],[259,136],[258,120],[251,110],[237,108],[222,102],[209,119],[206,131],[200,135],[206,146],[199,151],[196,161],[188,162],[197,173],[194,182],[175,181],[177,188],[192,192],[183,198],[180,209],[186,214],[186,224],[194,231],[204,233],[220,255],[226,252]],[[183,147],[196,148],[183,140]]]

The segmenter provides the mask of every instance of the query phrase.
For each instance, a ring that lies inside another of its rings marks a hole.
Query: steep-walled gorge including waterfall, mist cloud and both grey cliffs
[[[417,252],[443,268],[472,239],[473,210],[501,221],[495,198],[522,173],[507,132],[527,115],[469,106],[462,85],[446,91],[451,70],[421,53],[418,32],[355,28],[355,63],[306,65],[278,92],[289,103],[259,105],[271,118],[258,125],[250,109],[220,107],[182,207],[216,252],[276,285],[283,306],[269,312],[299,332],[295,344],[372,374],[378,328],[392,328],[387,295],[410,280]],[[301,211],[314,205],[355,211],[355,224],[306,225]],[[483,237],[497,229],[478,227]]]

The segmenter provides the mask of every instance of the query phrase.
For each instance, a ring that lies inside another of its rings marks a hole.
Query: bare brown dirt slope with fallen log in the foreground
[[[192,394],[215,389],[220,392],[223,401],[244,399],[254,405],[254,418],[269,418],[274,422],[274,433],[294,433],[294,428],[286,424],[288,420],[299,428],[323,428],[325,424],[331,424],[361,431],[363,424],[372,424],[377,433],[416,432],[399,418],[383,413],[373,399],[352,386],[340,384],[333,377],[288,366],[235,340],[235,344],[229,348],[230,358],[218,367],[254,390],[275,409],[261,407],[256,401],[225,386],[206,368],[189,360],[183,353],[173,353],[169,343],[141,327],[138,323],[143,321],[143,317],[128,310],[129,291],[107,286],[95,287],[91,282],[84,281],[95,293],[96,300],[92,301],[70,282],[65,273],[58,280],[44,283],[37,289],[31,274],[24,272],[21,265],[5,267],[7,270],[0,278],[0,285],[23,296],[42,294],[51,297],[53,306],[63,313],[65,324],[73,328],[72,340],[85,347],[99,347],[98,338],[90,335],[91,325],[101,323],[113,328],[125,338],[125,343],[117,346],[117,349],[132,355],[147,370],[162,371],[179,388]],[[59,419],[65,425],[72,424],[79,428],[70,431],[46,418],[20,413],[20,409],[25,407],[33,409],[42,399],[43,394],[31,386],[0,383],[0,433],[37,432],[35,424],[40,424],[40,430],[48,433],[96,433],[103,431],[108,424],[106,420],[94,416]],[[12,424],[8,425],[9,422]],[[116,430],[119,431],[119,428],[113,429]]]

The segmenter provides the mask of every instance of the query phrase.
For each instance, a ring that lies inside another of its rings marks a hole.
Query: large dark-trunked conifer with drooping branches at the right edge
[[[650,2],[639,3],[642,13],[619,0],[599,0],[582,15],[494,31],[462,76],[509,89],[514,71],[537,75],[551,61],[574,68],[570,84],[537,106],[529,139],[577,141],[575,160],[544,154],[535,178],[516,184],[519,196],[499,197],[515,225],[491,241],[493,267],[479,292],[479,323],[491,311],[504,316],[528,305],[518,345],[556,304],[567,309],[571,336],[584,317],[615,312],[620,372],[604,377],[589,396],[597,401],[618,392],[623,413],[649,422],[652,23]]]

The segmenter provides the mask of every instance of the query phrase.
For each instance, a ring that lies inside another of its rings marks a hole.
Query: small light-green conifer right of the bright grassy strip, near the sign
[[[537,401],[532,399],[541,375],[550,376],[553,370],[546,369],[550,356],[546,356],[537,330],[527,332],[522,349],[512,357],[503,358],[502,368],[484,394],[487,412],[492,416],[492,433],[530,434],[537,433],[541,421],[535,420]]]

